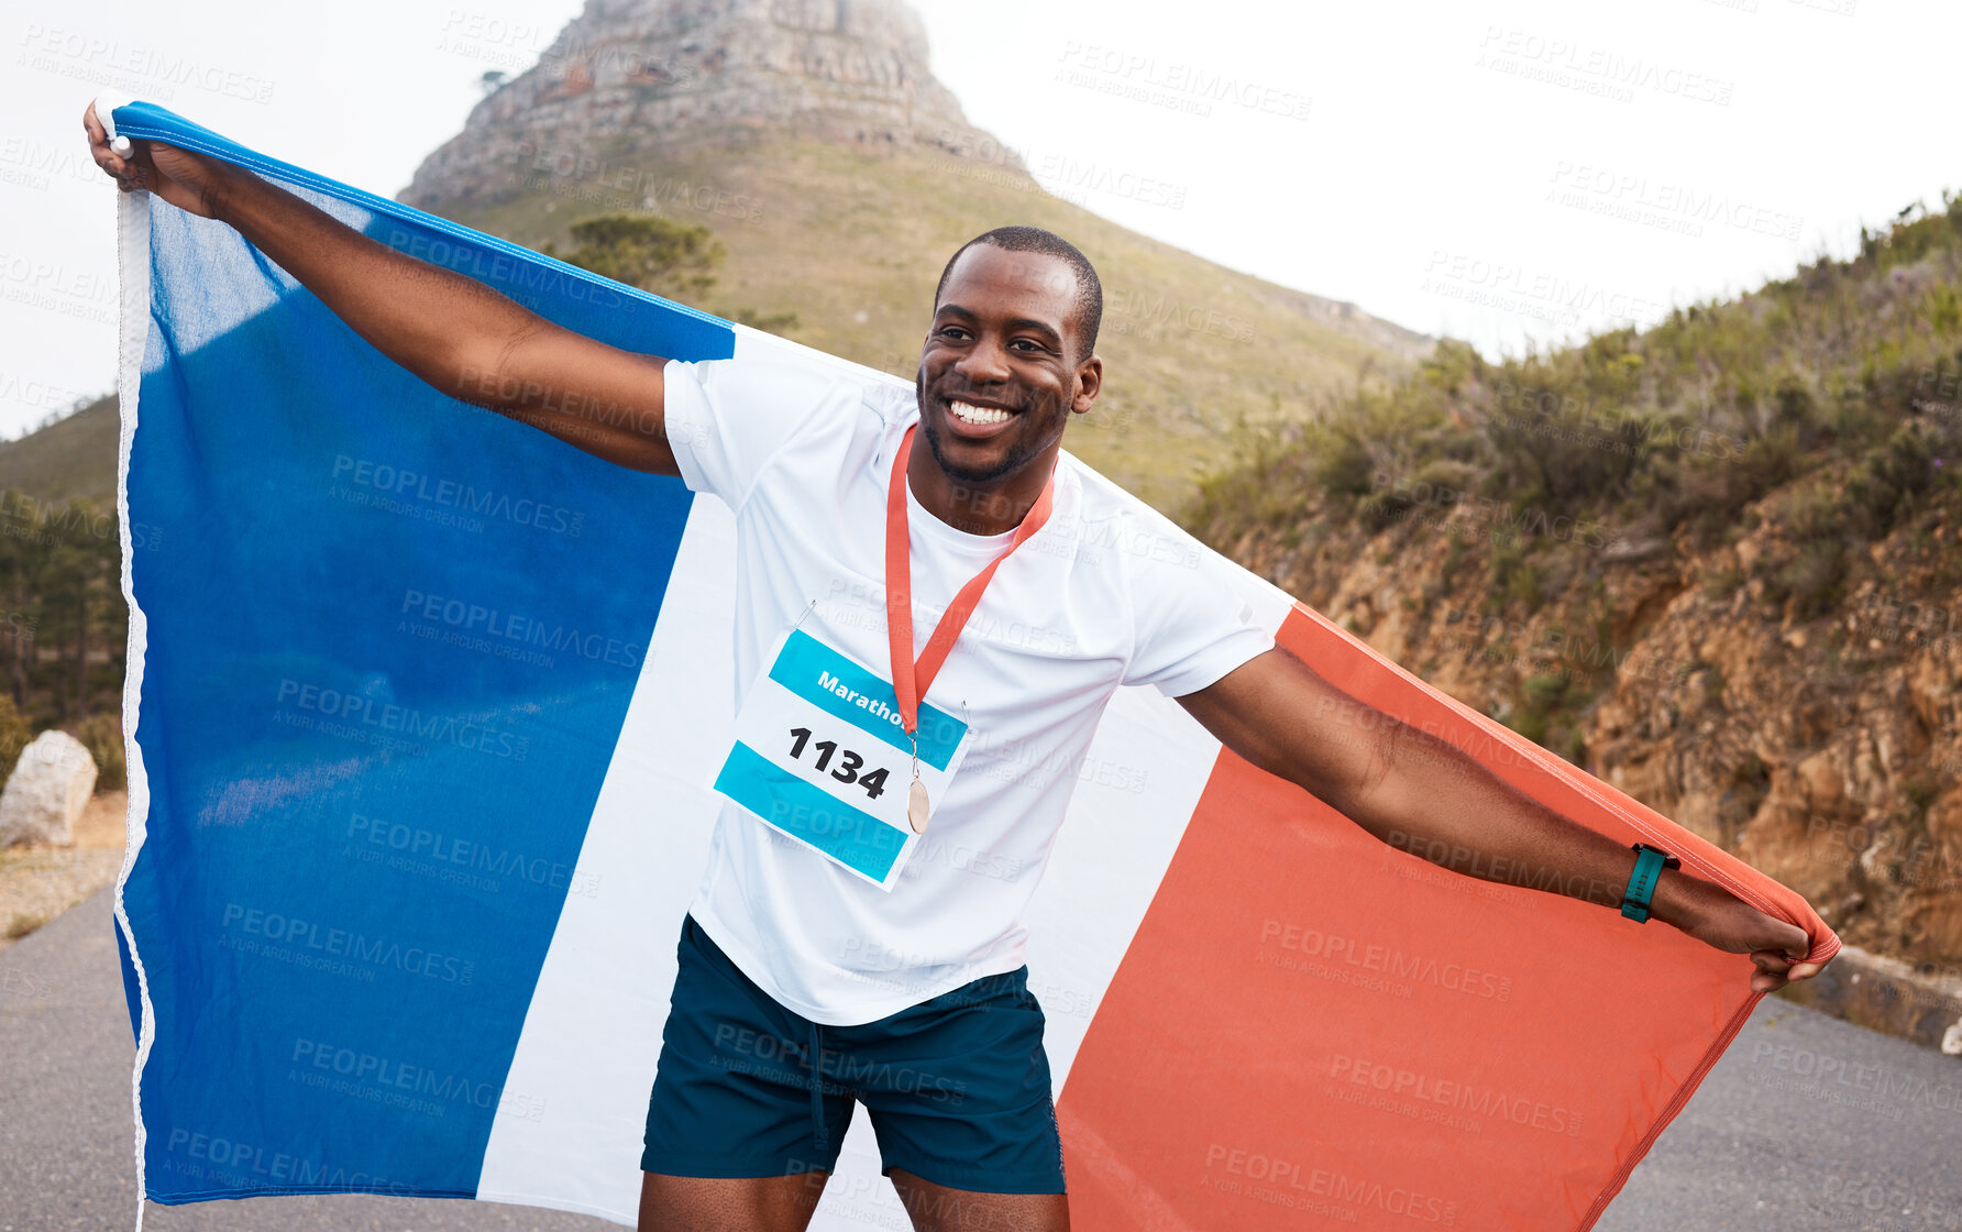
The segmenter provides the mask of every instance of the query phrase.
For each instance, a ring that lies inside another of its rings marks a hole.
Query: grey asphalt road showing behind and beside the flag
[[[131,1226],[128,1022],[106,891],[0,953],[0,1232]],[[145,1228],[612,1224],[492,1203],[304,1197],[153,1205]],[[1766,1001],[1599,1228],[1962,1228],[1962,1059]]]

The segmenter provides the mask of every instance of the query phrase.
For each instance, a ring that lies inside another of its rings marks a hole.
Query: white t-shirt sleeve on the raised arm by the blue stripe
[[[667,361],[661,416],[681,479],[742,508],[777,451],[855,402],[824,371],[769,359]]]

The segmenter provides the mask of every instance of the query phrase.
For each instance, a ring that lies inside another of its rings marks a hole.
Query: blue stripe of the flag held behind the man
[[[583,334],[734,349],[157,108],[118,126],[357,204]],[[151,798],[124,887],[149,1197],[473,1195],[695,498],[428,388],[230,228],[151,202],[151,237],[126,390],[128,510],[159,532],[131,553]],[[179,343],[235,304],[269,306]]]

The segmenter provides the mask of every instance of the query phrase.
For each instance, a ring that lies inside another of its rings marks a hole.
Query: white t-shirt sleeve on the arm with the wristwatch
[[[1136,643],[1126,685],[1185,696],[1273,649],[1244,569],[1171,522],[1130,536]]]

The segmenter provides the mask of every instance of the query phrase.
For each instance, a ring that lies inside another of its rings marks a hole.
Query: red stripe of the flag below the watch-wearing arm
[[[1279,640],[1838,950],[1791,891],[1318,614]],[[1507,873],[1438,869],[1222,753],[1058,1104],[1073,1226],[1593,1226],[1756,1004],[1750,959]]]

